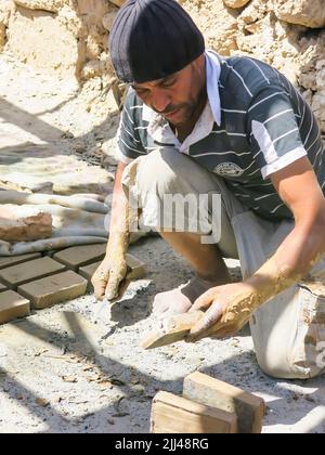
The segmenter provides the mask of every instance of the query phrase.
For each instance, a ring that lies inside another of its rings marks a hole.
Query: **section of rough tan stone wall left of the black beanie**
[[[60,77],[112,76],[107,37],[116,11],[108,0],[0,0],[0,47]]]

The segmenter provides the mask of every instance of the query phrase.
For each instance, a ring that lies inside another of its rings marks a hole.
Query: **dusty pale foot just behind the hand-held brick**
[[[194,276],[190,282],[176,289],[157,294],[153,303],[153,313],[159,318],[165,318],[172,314],[186,313],[200,295],[210,289],[210,287],[221,284],[223,283],[217,280],[208,281]]]

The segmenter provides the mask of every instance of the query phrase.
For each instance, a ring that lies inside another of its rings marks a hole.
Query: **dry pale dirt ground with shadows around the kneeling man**
[[[117,116],[112,123],[103,118],[103,106],[98,116],[96,109],[89,112],[70,82],[2,55],[0,96],[0,165],[12,151],[41,148],[48,158],[60,151],[75,159],[83,147],[90,161],[103,143],[108,152],[114,147]],[[82,171],[84,162],[79,164]],[[92,188],[107,182],[107,171],[99,166],[87,170]],[[108,167],[108,174],[113,170]],[[60,172],[56,178],[62,183]],[[0,327],[1,433],[145,433],[155,393],[181,392],[184,376],[197,369],[264,398],[265,433],[325,432],[325,378],[304,382],[265,376],[247,330],[226,340],[144,351],[140,343],[153,323],[154,295],[186,281],[191,270],[157,237],[141,239],[131,251],[147,263],[147,274],[135,295],[112,309],[96,304],[89,291]],[[229,265],[237,273],[236,262]]]

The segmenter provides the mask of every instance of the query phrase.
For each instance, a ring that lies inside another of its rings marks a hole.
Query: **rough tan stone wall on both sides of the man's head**
[[[207,47],[252,55],[283,72],[307,96],[325,133],[324,0],[179,1]],[[107,38],[122,2],[0,0],[0,49],[62,77],[108,83],[114,72]]]

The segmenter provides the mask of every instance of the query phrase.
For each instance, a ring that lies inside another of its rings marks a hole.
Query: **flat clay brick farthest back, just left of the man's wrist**
[[[105,253],[106,244],[82,245],[56,252],[53,259],[77,272],[80,266],[104,259]]]

